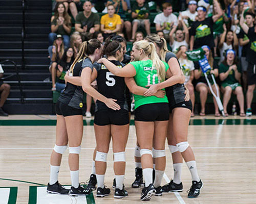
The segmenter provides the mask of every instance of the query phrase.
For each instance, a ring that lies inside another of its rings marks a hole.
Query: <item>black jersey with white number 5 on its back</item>
[[[116,61],[110,60],[119,69],[121,69],[124,64]],[[125,82],[123,77],[117,77],[111,73],[104,64],[94,63],[95,69],[98,72],[97,75],[97,86],[98,92],[107,98],[116,99],[116,103],[121,106],[122,109],[128,110],[126,97],[125,97]],[[104,103],[97,100],[95,112],[102,109],[109,109]]]

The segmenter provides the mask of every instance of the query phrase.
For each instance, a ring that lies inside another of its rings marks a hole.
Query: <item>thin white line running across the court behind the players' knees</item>
[[[81,149],[94,149],[95,147],[82,147]],[[252,147],[192,147],[193,149],[255,149]],[[53,149],[53,147],[0,147],[1,149]],[[112,148],[110,148],[112,149]],[[126,149],[134,149],[134,147],[126,147]]]

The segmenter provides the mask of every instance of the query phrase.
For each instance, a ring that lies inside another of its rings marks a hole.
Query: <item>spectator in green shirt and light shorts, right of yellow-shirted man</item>
[[[132,8],[133,32],[131,41],[135,41],[135,33],[139,27],[146,30],[146,34],[150,34],[150,19],[148,19],[149,11],[145,0],[136,0]]]

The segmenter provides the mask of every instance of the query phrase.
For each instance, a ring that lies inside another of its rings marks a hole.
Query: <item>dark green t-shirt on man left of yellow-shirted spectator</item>
[[[76,24],[81,25],[81,29],[87,25],[87,32],[90,31],[94,25],[99,25],[99,15],[97,13],[91,13],[91,15],[87,18],[83,15],[83,12],[79,12],[76,16]]]

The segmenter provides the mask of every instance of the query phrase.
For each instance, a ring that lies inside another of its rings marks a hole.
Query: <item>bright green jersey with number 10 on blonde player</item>
[[[163,63],[165,65],[165,71],[167,71],[169,66],[165,62]],[[158,75],[157,75],[157,70],[152,69],[152,60],[130,62],[129,64],[132,64],[136,70],[136,75],[134,77],[134,80],[138,86],[148,88],[145,86],[149,84],[160,83],[160,80],[158,79]],[[142,95],[134,94],[134,100],[135,100],[135,109],[145,104],[168,103],[168,99],[166,95],[163,98],[158,98],[156,96],[145,97]]]

